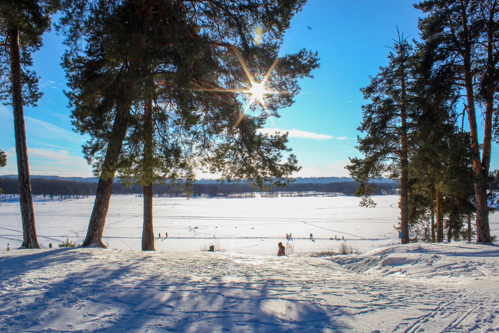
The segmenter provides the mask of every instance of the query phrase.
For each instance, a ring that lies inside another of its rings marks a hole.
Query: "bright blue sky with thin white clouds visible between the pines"
[[[309,0],[291,21],[282,53],[301,48],[317,50],[320,68],[314,78],[300,82],[296,102],[268,120],[267,128],[289,131],[289,146],[302,170],[295,176],[348,176],[348,157],[358,156],[357,126],[362,120],[359,91],[386,65],[396,38],[396,26],[410,38],[418,38],[415,0]],[[70,110],[63,94],[66,87],[60,57],[62,37],[44,35],[44,46],[33,54],[34,69],[45,93],[38,107],[24,109],[31,174],[91,176],[81,152],[86,138],[72,131]],[[12,109],[0,105],[0,149],[7,165],[0,174],[17,173]],[[499,167],[499,149],[493,143],[491,169]]]

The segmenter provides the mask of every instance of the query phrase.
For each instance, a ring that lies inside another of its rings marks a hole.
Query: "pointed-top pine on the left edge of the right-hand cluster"
[[[349,158],[346,166],[360,186],[355,195],[362,196],[361,205],[374,206],[371,198],[375,185],[373,178],[390,177],[400,182],[400,228],[402,243],[409,242],[408,224],[408,133],[409,89],[412,84],[413,47],[400,35],[395,40],[389,63],[371,77],[371,83],[361,89],[371,103],[363,105],[363,121],[358,130],[366,132],[358,138],[357,149],[364,158]]]

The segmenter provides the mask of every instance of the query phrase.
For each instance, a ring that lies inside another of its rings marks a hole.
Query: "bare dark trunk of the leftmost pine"
[[[22,104],[21,60],[19,54],[19,26],[8,27],[10,45],[10,80],[12,109],[14,111],[15,153],[17,155],[17,174],[19,178],[19,204],[21,209],[22,236],[21,246],[40,248],[36,238],[33,198],[29,180],[24,107]]]

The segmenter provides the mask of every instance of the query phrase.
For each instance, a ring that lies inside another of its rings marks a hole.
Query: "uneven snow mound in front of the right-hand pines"
[[[378,277],[499,282],[499,245],[494,243],[413,243],[330,260],[352,272]]]

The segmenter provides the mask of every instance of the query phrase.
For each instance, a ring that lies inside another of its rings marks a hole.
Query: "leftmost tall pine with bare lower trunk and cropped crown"
[[[24,105],[36,106],[42,93],[38,77],[29,70],[31,53],[42,45],[43,32],[50,29],[50,15],[56,0],[0,1],[0,99],[11,104],[14,113],[15,152],[19,178],[23,242],[21,246],[39,248],[29,182],[29,166],[24,126]]]

